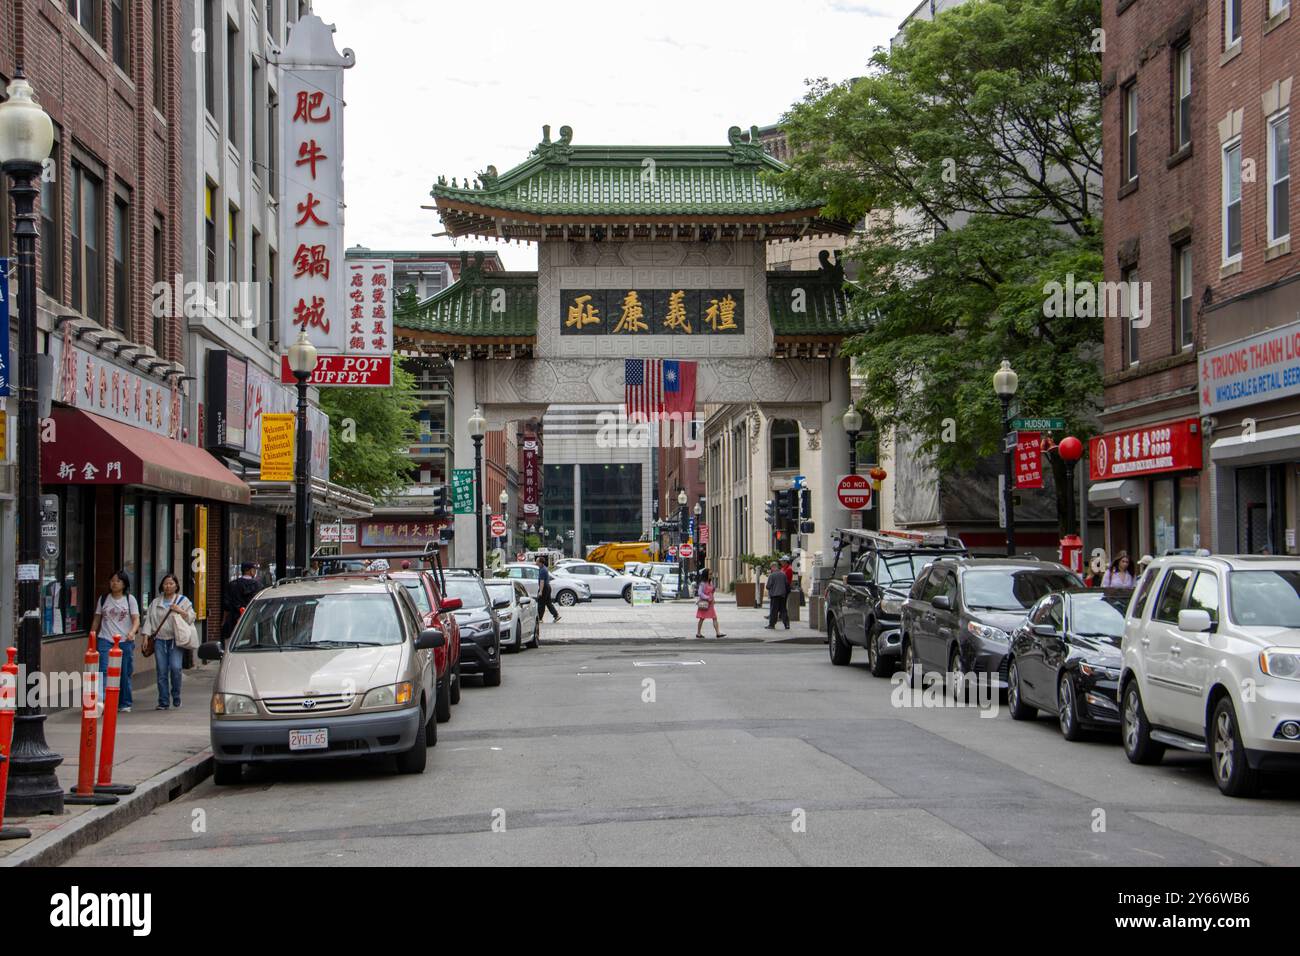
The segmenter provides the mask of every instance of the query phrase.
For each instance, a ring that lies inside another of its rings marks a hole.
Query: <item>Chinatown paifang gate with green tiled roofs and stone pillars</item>
[[[486,272],[463,255],[460,276],[395,319],[399,352],[454,360],[455,466],[473,464],[468,410],[489,428],[540,418],[551,405],[621,403],[625,359],[698,363],[697,407],[757,406],[797,420],[816,498],[818,535],[844,524],[835,481],[848,468],[838,431],[849,378],[838,346],[859,330],[844,274],[767,268],[768,243],[845,235],[820,203],[767,179],[784,169],[732,127],[727,146],[576,146],[569,127],[504,174],[439,177],[446,232],[536,242],[536,272]],[[456,563],[471,563],[472,516],[458,516]],[[820,541],[809,542],[810,550]]]

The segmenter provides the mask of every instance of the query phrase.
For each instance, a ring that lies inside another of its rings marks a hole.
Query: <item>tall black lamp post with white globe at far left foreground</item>
[[[4,813],[62,813],[55,767],[64,758],[46,744],[46,715],[32,684],[40,672],[40,441],[36,401],[36,186],[55,144],[55,126],[36,103],[18,61],[8,99],[0,104],[0,164],[9,176],[18,251],[18,656],[20,672],[9,791]]]

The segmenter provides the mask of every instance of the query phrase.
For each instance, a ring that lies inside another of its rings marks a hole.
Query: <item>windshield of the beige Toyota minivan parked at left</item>
[[[254,601],[231,650],[378,646],[402,643],[402,622],[386,593],[269,597]]]

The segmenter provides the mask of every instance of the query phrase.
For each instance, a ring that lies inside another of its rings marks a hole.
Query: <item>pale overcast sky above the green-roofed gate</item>
[[[857,75],[916,0],[317,0],[347,72],[348,246],[447,248],[429,189],[524,161],[550,124],[585,144],[725,144],[805,81]],[[497,248],[508,269],[536,247]]]

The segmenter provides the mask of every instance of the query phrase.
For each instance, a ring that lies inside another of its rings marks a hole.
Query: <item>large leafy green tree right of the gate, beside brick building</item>
[[[1102,319],[1054,313],[1046,289],[1101,281],[1100,26],[1097,0],[970,0],[783,120],[794,157],[775,178],[866,220],[850,308],[867,330],[844,346],[864,406],[941,470],[1001,450],[1004,358],[1026,412],[1096,427]]]

